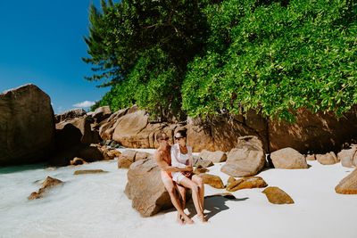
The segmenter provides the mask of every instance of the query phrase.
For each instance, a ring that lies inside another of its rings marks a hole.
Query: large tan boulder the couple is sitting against
[[[154,160],[138,160],[130,166],[127,176],[124,193],[142,216],[150,217],[172,207],[170,195],[162,184],[161,168]]]

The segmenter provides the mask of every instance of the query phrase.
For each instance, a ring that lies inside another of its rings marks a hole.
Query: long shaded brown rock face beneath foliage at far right
[[[333,111],[312,113],[296,111],[296,122],[269,120],[270,152],[292,147],[298,152],[324,153],[337,151],[341,144],[357,135],[356,106],[336,119]]]

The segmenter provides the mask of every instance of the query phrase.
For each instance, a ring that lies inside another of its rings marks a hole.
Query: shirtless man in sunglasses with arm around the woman
[[[183,209],[185,209],[186,201],[186,189],[180,185],[177,185],[172,181],[171,172],[179,171],[192,171],[192,167],[187,166],[186,168],[175,168],[171,166],[171,156],[170,156],[170,144],[169,137],[160,132],[156,135],[156,141],[159,144],[159,148],[154,152],[154,160],[162,168],[162,183],[165,186],[166,190],[170,194],[170,199],[173,206],[178,210],[178,222],[180,224],[192,224],[194,221],[186,215]],[[179,202],[176,189],[179,191],[179,194],[182,199],[182,206]]]

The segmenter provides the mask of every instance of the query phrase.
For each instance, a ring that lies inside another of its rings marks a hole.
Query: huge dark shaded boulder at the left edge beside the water
[[[53,149],[50,97],[31,84],[0,94],[0,166],[44,161]]]

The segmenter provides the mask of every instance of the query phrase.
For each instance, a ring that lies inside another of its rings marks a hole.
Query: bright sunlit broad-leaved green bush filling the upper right
[[[188,115],[254,109],[294,120],[301,107],[341,116],[357,103],[355,4],[257,4],[228,0],[207,8],[209,45],[189,64],[181,90]]]

